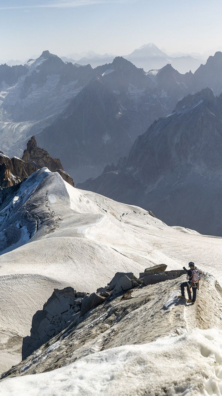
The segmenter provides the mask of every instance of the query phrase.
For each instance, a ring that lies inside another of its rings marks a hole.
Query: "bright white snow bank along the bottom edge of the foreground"
[[[222,395],[222,331],[193,329],[2,381],[5,396]]]

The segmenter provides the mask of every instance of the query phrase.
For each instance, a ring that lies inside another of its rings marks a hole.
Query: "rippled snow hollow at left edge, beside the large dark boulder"
[[[40,274],[0,276],[0,371],[21,361],[23,337],[29,334],[32,316],[54,287],[65,286],[66,282]]]

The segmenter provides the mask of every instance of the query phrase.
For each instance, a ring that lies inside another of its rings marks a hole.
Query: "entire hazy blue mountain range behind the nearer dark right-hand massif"
[[[158,53],[159,55],[159,53]],[[61,158],[76,183],[128,156],[135,139],[189,93],[222,92],[222,53],[194,74],[168,64],[144,72],[123,57],[92,69],[43,51],[24,66],[0,66],[0,148],[20,156],[28,138]]]

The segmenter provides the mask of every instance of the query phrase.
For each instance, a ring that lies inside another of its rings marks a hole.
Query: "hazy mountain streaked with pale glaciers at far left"
[[[51,125],[94,75],[90,65],[65,64],[49,51],[43,51],[38,59],[29,59],[24,66],[0,66],[0,91],[4,91],[0,147],[5,154],[21,157],[27,136]]]

